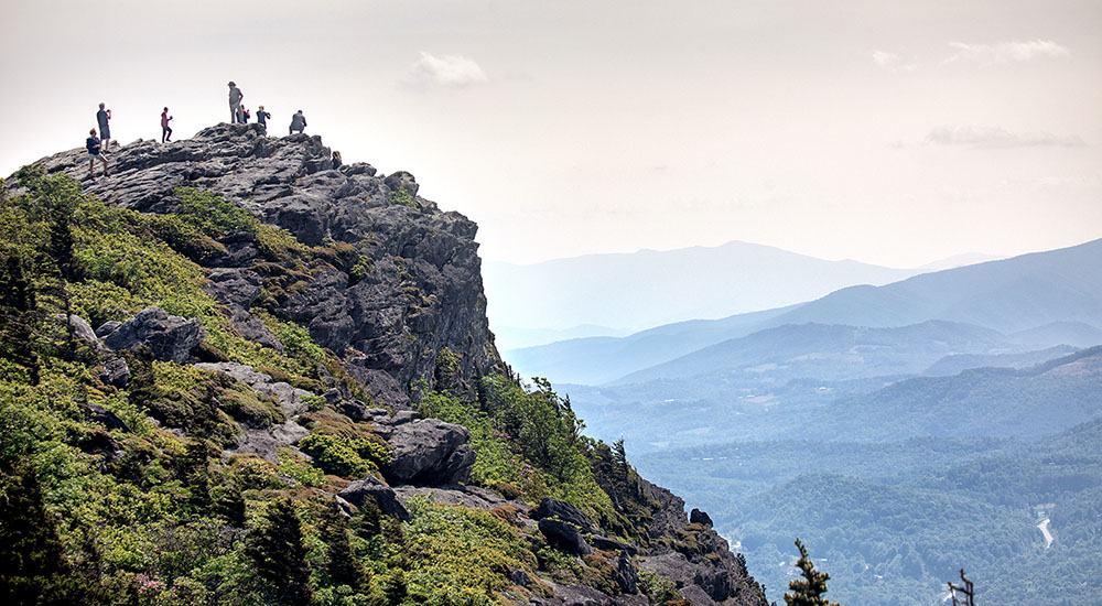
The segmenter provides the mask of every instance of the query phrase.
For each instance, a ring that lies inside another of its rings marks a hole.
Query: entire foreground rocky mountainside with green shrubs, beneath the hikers
[[[0,351],[3,414],[42,423],[0,450],[31,487],[0,501],[37,509],[0,512],[48,511],[29,523],[68,553],[0,573],[11,603],[764,606],[705,513],[508,377],[476,226],[329,156],[219,125],[115,148],[110,176],[73,150],[0,187],[2,281],[39,293],[0,301],[28,344]]]

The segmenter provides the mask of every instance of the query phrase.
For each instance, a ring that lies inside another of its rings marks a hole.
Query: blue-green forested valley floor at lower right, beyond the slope
[[[1087,604],[1102,574],[1100,441],[1094,420],[1034,442],[742,443],[640,468],[706,507],[768,587],[795,574],[778,563],[796,534],[842,604],[933,604],[961,566],[981,604]]]

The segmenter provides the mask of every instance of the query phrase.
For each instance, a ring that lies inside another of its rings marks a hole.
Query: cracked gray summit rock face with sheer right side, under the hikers
[[[422,381],[432,387],[445,347],[458,356],[468,387],[501,367],[486,320],[477,226],[419,196],[412,174],[379,175],[364,163],[333,170],[320,137],[266,137],[259,125],[218,125],[183,141],[112,149],[108,177],[88,180],[86,155],[75,149],[39,163],[84,181],[104,202],[141,213],[171,213],[179,204],[174,190],[194,187],[309,246],[353,245],[363,261],[357,275],[312,273],[272,311],[343,357],[376,402],[403,408]],[[263,286],[252,270],[253,240],[250,234],[219,240],[226,253],[204,260],[207,292],[229,309],[242,336],[280,349],[249,313]]]

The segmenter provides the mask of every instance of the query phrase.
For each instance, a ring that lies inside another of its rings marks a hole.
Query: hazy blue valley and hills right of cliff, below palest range
[[[942,604],[960,569],[980,603],[1089,604],[1100,250],[559,342],[521,367],[590,377],[557,383],[586,433],[623,440],[642,475],[707,511],[770,600],[799,575],[799,538],[841,604]]]

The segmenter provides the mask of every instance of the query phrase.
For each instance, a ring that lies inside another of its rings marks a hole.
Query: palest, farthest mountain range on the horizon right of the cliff
[[[852,284],[895,282],[918,271],[827,261],[733,241],[526,266],[489,261],[484,273],[495,328],[601,324],[638,329],[781,307]],[[580,292],[587,295],[579,297]]]

